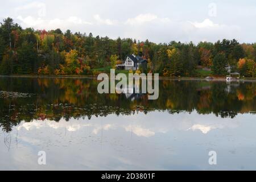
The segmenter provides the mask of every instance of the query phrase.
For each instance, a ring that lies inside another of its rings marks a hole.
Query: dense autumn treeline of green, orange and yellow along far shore
[[[22,29],[11,18],[4,19],[0,27],[1,75],[97,75],[98,68],[114,67],[132,53],[148,60],[147,72],[161,76],[198,76],[199,68],[225,75],[227,67],[242,76],[256,75],[256,43],[113,40],[70,30]]]

